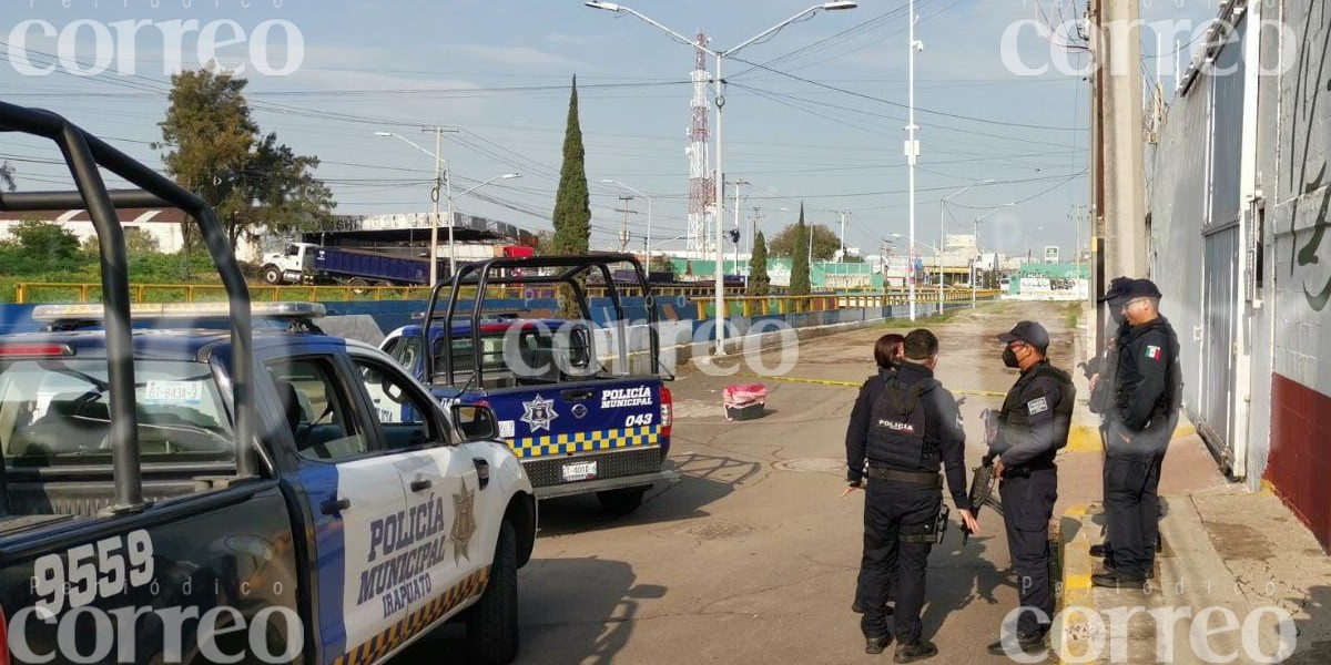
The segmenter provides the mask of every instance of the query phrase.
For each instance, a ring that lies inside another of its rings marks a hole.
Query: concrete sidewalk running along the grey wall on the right
[[[1075,352],[1086,358],[1085,327],[1078,332]],[[1103,569],[1089,552],[1105,539],[1103,462],[1089,387],[1075,380],[1079,439],[1058,458],[1059,660],[1331,662],[1331,559],[1278,496],[1229,481],[1191,427],[1175,432],[1162,467],[1163,551],[1150,585],[1091,587]]]

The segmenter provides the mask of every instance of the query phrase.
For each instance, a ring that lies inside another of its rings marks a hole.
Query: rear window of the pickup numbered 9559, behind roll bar
[[[145,464],[233,459],[234,438],[208,364],[134,363]],[[102,359],[0,363],[0,448],[9,467],[110,464],[110,394]]]

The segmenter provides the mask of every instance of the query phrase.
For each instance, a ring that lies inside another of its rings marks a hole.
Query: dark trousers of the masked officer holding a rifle
[[[1017,593],[1022,612],[1017,617],[1021,633],[1044,633],[1054,616],[1054,593],[1049,579],[1049,519],[1058,500],[1058,469],[1030,471],[1030,475],[1004,477],[998,485],[1008,552],[1017,572]],[[1033,612],[1045,613],[1041,620]],[[1041,625],[1045,624],[1045,625]]]

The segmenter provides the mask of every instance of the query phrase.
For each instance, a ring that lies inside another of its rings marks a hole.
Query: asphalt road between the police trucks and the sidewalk
[[[1066,305],[994,303],[932,327],[941,338],[938,378],[958,398],[968,463],[984,454],[980,411],[997,407],[1016,380],[1002,367],[997,332],[1041,321],[1051,359],[1073,364]],[[655,488],[626,517],[603,515],[595,497],[540,505],[540,536],[522,569],[519,664],[654,665],[890,662],[866,656],[851,612],[860,561],[862,493],[841,497],[844,436],[855,387],[792,379],[861,382],[873,371],[880,327],[800,343],[781,379],[711,376],[692,370],[671,390],[671,458],[684,476]],[[779,352],[763,354],[769,366]],[[753,363],[743,371],[753,371]],[[767,415],[725,422],[727,383],[768,386]],[[998,395],[996,395],[998,394]],[[925,634],[930,662],[1009,662],[985,646],[1017,605],[1001,519],[980,516],[965,548],[956,517],[930,557]],[[413,646],[398,662],[463,664],[458,628]]]

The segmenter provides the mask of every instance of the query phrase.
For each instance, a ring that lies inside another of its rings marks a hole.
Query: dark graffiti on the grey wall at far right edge
[[[1290,174],[1295,176],[1298,184],[1296,196],[1311,194],[1319,189],[1326,192],[1322,196],[1320,206],[1312,222],[1311,234],[1306,242],[1299,242],[1294,237],[1294,261],[1290,262],[1290,274],[1303,282],[1303,297],[1314,311],[1326,309],[1331,301],[1331,253],[1323,251],[1323,245],[1331,249],[1331,182],[1327,181],[1327,164],[1331,161],[1331,1],[1322,0],[1308,7],[1308,15],[1303,24],[1303,43],[1299,47],[1299,60],[1291,72],[1295,77],[1295,112],[1294,134],[1300,137],[1300,145],[1291,145]],[[1318,122],[1320,120],[1322,137],[1326,146],[1320,156],[1320,166],[1316,165],[1315,154],[1310,150],[1315,145]],[[1300,149],[1302,148],[1302,149]],[[1299,221],[1298,201],[1291,217],[1291,231]],[[1323,257],[1323,254],[1328,254]]]

